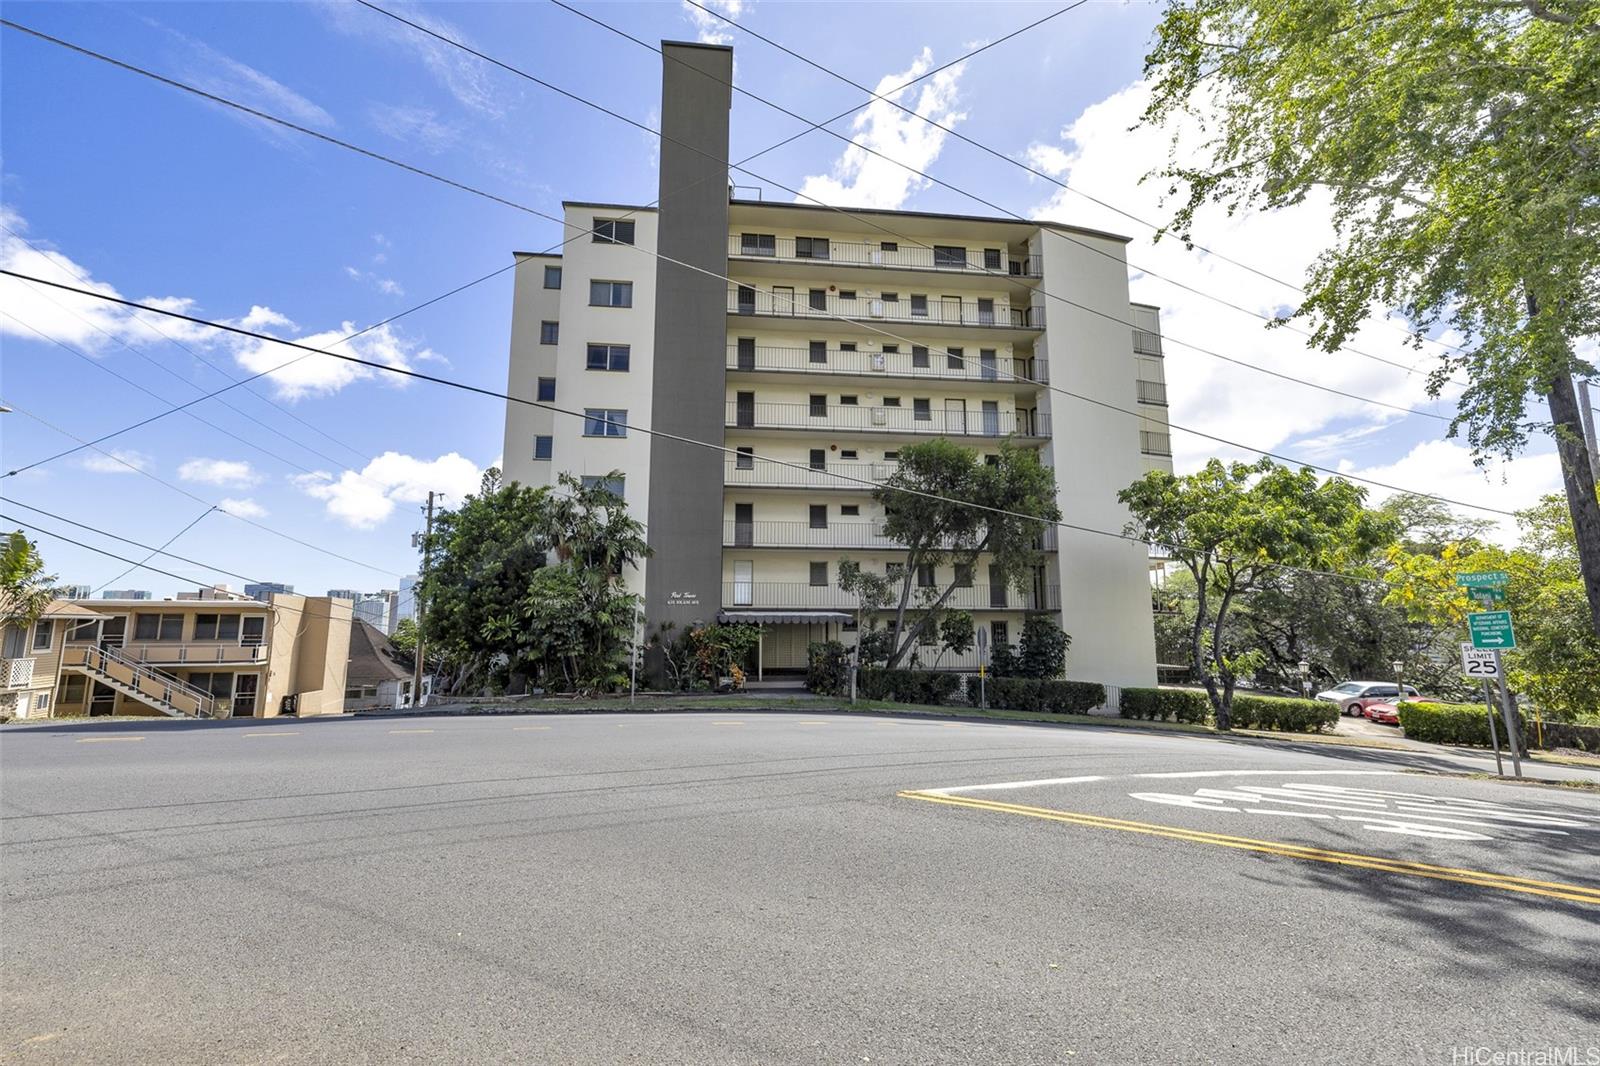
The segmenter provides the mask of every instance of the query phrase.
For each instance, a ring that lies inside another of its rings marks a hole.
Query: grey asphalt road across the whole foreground
[[[1600,795],[1427,765],[827,714],[6,728],[0,1060],[1589,1055]]]

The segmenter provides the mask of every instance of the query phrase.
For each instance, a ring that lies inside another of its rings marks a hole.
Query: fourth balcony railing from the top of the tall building
[[[928,437],[1048,437],[1050,416],[1029,411],[971,410],[931,403],[874,407],[867,403],[754,403],[731,400],[726,424],[734,429],[811,429]]]

